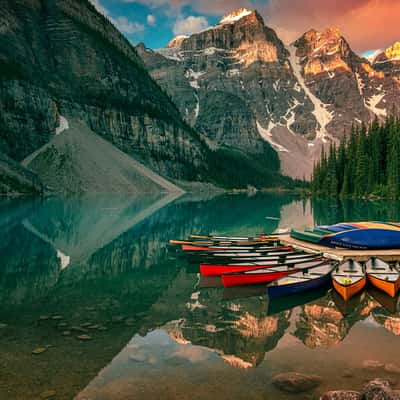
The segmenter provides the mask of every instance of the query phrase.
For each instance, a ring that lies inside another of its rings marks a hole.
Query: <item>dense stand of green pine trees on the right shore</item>
[[[312,192],[323,197],[400,198],[400,121],[393,112],[383,124],[353,126],[338,148],[322,148],[314,165]]]

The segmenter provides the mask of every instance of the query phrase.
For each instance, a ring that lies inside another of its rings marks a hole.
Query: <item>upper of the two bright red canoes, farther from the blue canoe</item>
[[[311,260],[320,260],[321,257],[314,254],[302,255],[301,257],[286,257],[284,259],[275,258],[257,262],[243,262],[243,263],[230,263],[230,264],[200,264],[200,274],[204,276],[219,276],[223,274],[230,274],[235,272],[244,272],[250,270],[257,270],[262,268],[275,267],[279,265],[293,265],[309,262]]]

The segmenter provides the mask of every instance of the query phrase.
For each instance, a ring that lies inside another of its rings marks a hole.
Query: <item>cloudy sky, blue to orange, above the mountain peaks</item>
[[[133,43],[164,47],[170,39],[215,25],[239,7],[257,9],[291,43],[313,28],[337,27],[359,54],[400,40],[400,0],[90,0]]]

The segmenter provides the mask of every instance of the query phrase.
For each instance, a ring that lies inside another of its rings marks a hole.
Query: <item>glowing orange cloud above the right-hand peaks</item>
[[[290,43],[314,28],[338,27],[356,52],[400,40],[399,0],[272,0],[258,5],[266,23]]]

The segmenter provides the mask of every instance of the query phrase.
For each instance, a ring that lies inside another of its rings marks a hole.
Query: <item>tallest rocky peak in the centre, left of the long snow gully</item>
[[[310,115],[292,127],[292,112],[307,114],[312,105],[296,87],[289,53],[275,32],[257,11],[239,11],[211,29],[172,40],[158,54],[143,46],[139,54],[186,121],[211,145],[252,154],[268,152],[271,145],[285,151],[263,139],[260,130],[281,121],[302,135],[316,121]]]

